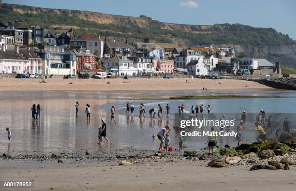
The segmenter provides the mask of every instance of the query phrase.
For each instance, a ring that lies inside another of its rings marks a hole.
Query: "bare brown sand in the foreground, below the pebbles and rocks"
[[[1,180],[34,180],[44,191],[294,191],[296,167],[285,170],[249,171],[250,165],[206,167],[206,161],[144,162],[118,166],[112,162],[37,163],[1,165]],[[2,189],[18,191],[19,189]]]

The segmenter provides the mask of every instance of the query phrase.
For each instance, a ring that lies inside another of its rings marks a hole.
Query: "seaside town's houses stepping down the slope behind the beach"
[[[30,48],[31,43],[38,45]],[[34,65],[26,56],[19,57],[19,54],[23,54],[19,52],[25,49],[40,58],[40,63]],[[1,73],[65,75],[105,70],[129,75],[174,72],[206,75],[211,72],[237,73],[239,69],[272,70],[275,67],[266,59],[237,59],[232,47],[161,44],[154,38],[132,43],[128,39],[125,42],[107,37],[102,40],[96,33],[75,35],[72,28],[46,30],[39,25],[28,29],[17,21],[15,25],[11,22],[7,26],[0,24],[0,50],[15,55],[12,57],[15,60],[24,61],[22,66],[16,66],[14,61],[9,64],[5,54],[1,54],[0,59],[6,60],[0,66]]]

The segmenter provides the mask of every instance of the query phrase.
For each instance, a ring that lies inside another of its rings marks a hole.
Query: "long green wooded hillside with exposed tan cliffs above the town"
[[[148,18],[108,15],[89,11],[47,9],[0,3],[0,22],[18,20],[23,25],[40,25],[45,29],[73,28],[76,34],[96,32],[101,36],[142,41],[156,37],[160,43],[235,45],[238,54],[296,67],[296,41],[275,29],[253,28],[247,25],[183,25],[164,23]]]

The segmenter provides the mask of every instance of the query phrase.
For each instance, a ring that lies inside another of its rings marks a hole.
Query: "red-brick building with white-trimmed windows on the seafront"
[[[76,54],[76,73],[83,71],[92,71],[98,70],[98,62],[96,60],[97,56],[89,53],[89,50],[83,52],[82,50],[76,51],[73,49],[73,52]]]

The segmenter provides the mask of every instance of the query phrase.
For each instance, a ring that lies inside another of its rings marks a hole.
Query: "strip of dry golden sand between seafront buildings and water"
[[[101,91],[101,90],[193,90],[193,89],[272,89],[237,79],[131,78],[131,79],[0,79],[0,91]],[[110,84],[107,82],[110,81]],[[69,84],[73,82],[73,84]]]

